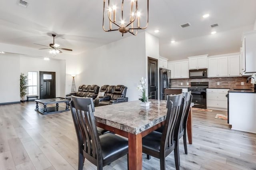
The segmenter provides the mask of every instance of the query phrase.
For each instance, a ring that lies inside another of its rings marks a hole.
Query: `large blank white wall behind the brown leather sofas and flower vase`
[[[129,101],[138,100],[140,92],[136,85],[146,76],[145,33],[120,39],[80,55],[83,65],[78,75],[80,84],[125,85]]]

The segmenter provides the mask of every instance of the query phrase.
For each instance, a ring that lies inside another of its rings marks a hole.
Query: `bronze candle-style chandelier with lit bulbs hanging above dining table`
[[[124,18],[124,0],[122,0],[122,5],[120,8],[120,24],[116,22],[116,14],[117,12],[117,6],[114,4],[111,4],[110,6],[110,0],[108,0],[108,10],[106,10],[106,15],[108,16],[109,20],[109,29],[106,30],[104,28],[104,18],[105,18],[105,0],[103,0],[103,25],[102,28],[105,32],[110,31],[119,31],[122,33],[122,36],[124,36],[124,33],[131,33],[132,35],[136,36],[138,33],[138,30],[144,30],[148,27],[148,0],[147,0],[147,20],[146,20],[146,26],[141,27],[140,26],[140,19],[141,19],[141,13],[138,11],[138,0],[130,0],[130,14],[127,16],[129,18],[128,22],[125,21]],[[112,29],[112,24],[117,28]],[[135,31],[136,30],[136,31]]]

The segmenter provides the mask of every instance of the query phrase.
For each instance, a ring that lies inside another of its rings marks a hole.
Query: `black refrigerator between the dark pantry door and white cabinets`
[[[164,89],[171,88],[171,71],[168,69],[159,69],[159,86],[160,86],[160,100],[164,100]]]

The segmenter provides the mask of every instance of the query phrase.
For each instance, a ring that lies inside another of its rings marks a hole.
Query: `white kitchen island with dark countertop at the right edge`
[[[256,91],[250,89],[230,89],[229,124],[232,129],[256,133]]]

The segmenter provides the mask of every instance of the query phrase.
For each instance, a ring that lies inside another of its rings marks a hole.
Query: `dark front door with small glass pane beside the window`
[[[55,72],[39,71],[40,99],[55,98]]]

